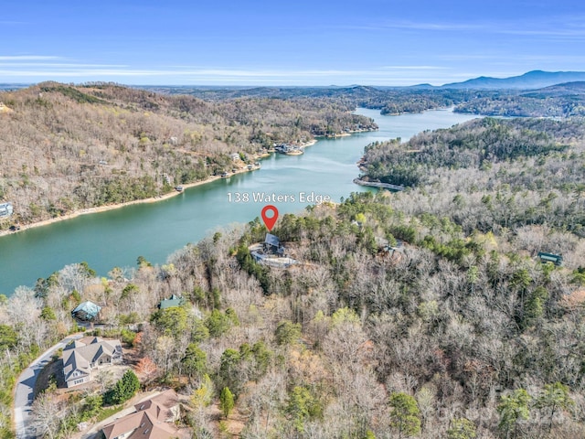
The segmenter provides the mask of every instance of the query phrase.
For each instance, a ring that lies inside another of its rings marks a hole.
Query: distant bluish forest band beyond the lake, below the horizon
[[[457,85],[457,84],[455,84]],[[382,114],[423,112],[455,106],[456,112],[491,116],[570,117],[585,115],[585,82],[568,82],[537,90],[481,90],[471,88],[414,87],[256,87],[191,88],[151,87],[167,94],[189,94],[220,102],[241,98],[335,100],[355,108],[378,109]]]

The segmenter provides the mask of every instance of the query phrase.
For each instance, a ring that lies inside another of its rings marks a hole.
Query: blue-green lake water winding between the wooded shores
[[[135,267],[138,256],[153,264],[165,263],[169,254],[188,242],[260,218],[267,203],[253,194],[282,196],[285,202],[271,204],[283,215],[314,204],[307,202],[311,194],[338,202],[351,192],[377,190],[353,183],[364,146],[396,137],[404,141],[421,131],[476,117],[449,110],[399,116],[362,108],[356,112],[373,118],[379,130],[322,139],[307,147],[304,155],[271,155],[261,162],[260,170],[190,187],[174,198],[82,215],[0,238],[0,294],[13,294],[18,285],[33,286],[37,278],[75,262],[88,262],[100,275],[115,266]],[[243,199],[246,194],[248,201]]]

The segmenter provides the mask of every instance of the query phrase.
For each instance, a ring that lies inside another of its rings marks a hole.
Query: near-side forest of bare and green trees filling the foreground
[[[139,257],[99,279],[74,264],[19,288],[0,305],[3,425],[15,371],[92,300],[102,335],[141,357],[143,386],[185,395],[194,438],[583,437],[584,149],[580,120],[370,145],[368,167],[418,180],[283,216],[272,232],[301,262],[289,269],[253,261],[255,219],[160,267]],[[170,294],[185,304],[156,310]],[[39,432],[69,437],[109,410],[113,385],[52,405],[48,389]]]

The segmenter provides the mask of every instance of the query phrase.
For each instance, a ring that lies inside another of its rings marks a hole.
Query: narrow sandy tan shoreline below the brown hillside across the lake
[[[309,142],[304,143],[302,146],[303,146],[303,148],[306,146],[312,146],[312,145],[315,145],[317,142],[318,142],[318,139],[313,139],[313,140],[310,140]],[[273,154],[273,153],[266,153],[266,154],[261,154],[261,155],[255,156],[254,160],[261,160],[262,158],[269,157],[271,154]],[[241,174],[244,172],[252,172],[252,171],[257,171],[257,170],[259,170],[259,168],[248,169],[246,167],[243,167],[243,168],[238,169],[234,173],[230,173],[230,176],[233,176],[234,174]],[[109,204],[107,206],[98,206],[95,208],[80,209],[80,210],[76,210],[74,212],[68,213],[66,215],[60,216],[60,217],[43,219],[41,221],[31,222],[30,224],[21,225],[19,230],[0,230],[0,238],[2,238],[3,236],[18,233],[20,231],[35,229],[37,227],[48,226],[49,224],[54,224],[54,223],[59,222],[59,221],[65,221],[67,219],[74,219],[74,218],[80,217],[81,215],[90,215],[92,213],[107,212],[109,210],[121,209],[121,208],[125,208],[126,206],[132,206],[133,204],[156,203],[158,201],[163,201],[165,199],[173,198],[173,197],[176,197],[177,195],[181,195],[185,192],[185,189],[188,189],[189,187],[197,187],[197,186],[201,186],[201,185],[207,185],[207,183],[211,183],[211,182],[219,180],[221,178],[222,178],[221,176],[210,176],[210,177],[207,177],[205,180],[199,180],[199,181],[196,181],[194,183],[186,183],[184,185],[177,185],[177,186],[183,187],[183,191],[181,191],[181,192],[175,190],[173,192],[169,192],[168,194],[159,195],[157,197],[134,199],[133,201],[126,201],[125,203],[120,203],[120,204]]]

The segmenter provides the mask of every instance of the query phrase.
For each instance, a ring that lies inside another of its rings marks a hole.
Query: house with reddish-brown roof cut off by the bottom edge
[[[181,415],[178,396],[173,390],[134,405],[127,414],[101,429],[105,439],[169,439],[178,437],[175,422]]]

